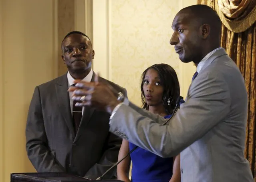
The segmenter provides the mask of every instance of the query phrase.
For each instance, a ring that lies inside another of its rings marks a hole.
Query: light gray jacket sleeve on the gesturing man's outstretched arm
[[[168,125],[161,125],[165,121],[162,117],[130,103],[117,109],[110,131],[159,156],[171,157],[204,136],[226,117],[229,109],[230,95],[224,78],[206,73],[193,83],[190,97]]]

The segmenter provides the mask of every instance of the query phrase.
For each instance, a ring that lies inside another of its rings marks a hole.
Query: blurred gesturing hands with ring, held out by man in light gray
[[[78,101],[76,106],[92,106],[111,113],[120,103],[109,85],[99,82],[98,75],[95,75],[94,82],[75,80],[75,83],[75,87],[68,91],[73,92],[72,99]]]

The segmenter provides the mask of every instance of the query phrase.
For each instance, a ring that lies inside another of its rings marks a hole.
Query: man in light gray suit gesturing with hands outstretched
[[[78,105],[105,107],[110,131],[159,156],[181,152],[182,182],[253,182],[244,158],[247,93],[238,67],[220,47],[221,22],[212,8],[194,5],[175,16],[174,45],[179,59],[197,72],[183,103],[168,125],[129,102],[118,101],[101,82],[80,82]],[[126,100],[126,99],[125,99]]]

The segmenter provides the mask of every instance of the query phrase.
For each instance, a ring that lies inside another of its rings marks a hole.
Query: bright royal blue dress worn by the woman
[[[166,116],[165,119],[169,118]],[[129,149],[136,145],[129,142]],[[133,163],[132,182],[169,182],[172,176],[173,158],[161,158],[143,148],[138,147],[131,153]]]

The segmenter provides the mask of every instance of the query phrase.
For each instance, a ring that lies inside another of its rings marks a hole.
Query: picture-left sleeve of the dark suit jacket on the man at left
[[[48,149],[38,87],[34,90],[28,110],[26,151],[37,172],[65,172],[65,169],[54,160],[54,151]]]

